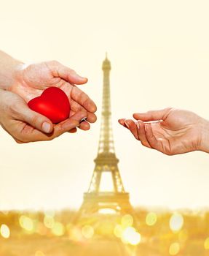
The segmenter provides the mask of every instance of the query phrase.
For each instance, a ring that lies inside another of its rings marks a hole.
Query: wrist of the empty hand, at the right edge
[[[200,145],[198,150],[209,153],[209,121],[204,118],[200,123]]]

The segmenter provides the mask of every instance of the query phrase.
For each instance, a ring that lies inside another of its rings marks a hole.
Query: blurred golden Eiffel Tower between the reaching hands
[[[119,214],[132,214],[135,216],[133,207],[130,205],[129,193],[125,192],[122,178],[119,173],[118,162],[111,128],[111,102],[109,75],[111,63],[107,58],[103,61],[103,107],[100,127],[100,140],[98,155],[95,161],[95,169],[90,181],[90,187],[84,193],[81,208],[76,214],[76,222],[82,216],[90,216],[98,213],[101,209],[111,209]],[[112,191],[101,191],[102,178],[105,173],[111,176]]]

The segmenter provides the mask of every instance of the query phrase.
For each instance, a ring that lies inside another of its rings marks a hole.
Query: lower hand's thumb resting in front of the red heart
[[[39,129],[44,133],[50,133],[53,130],[52,121],[46,116],[42,116],[39,113],[28,108],[26,104],[17,105],[16,112],[19,113],[18,117],[21,121],[30,124],[32,127]]]

